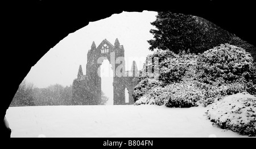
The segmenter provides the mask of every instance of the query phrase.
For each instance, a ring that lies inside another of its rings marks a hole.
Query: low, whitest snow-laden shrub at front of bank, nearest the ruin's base
[[[156,86],[135,102],[135,105],[166,105],[167,107],[192,107],[197,106],[197,101],[204,98],[199,88],[191,82],[177,82],[167,86]]]

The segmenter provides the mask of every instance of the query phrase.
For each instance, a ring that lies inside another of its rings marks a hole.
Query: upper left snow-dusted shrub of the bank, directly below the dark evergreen
[[[158,63],[154,63],[154,58],[157,57]],[[154,69],[155,65],[158,64],[159,68],[159,81],[168,85],[173,82],[181,81],[184,77],[187,69],[191,65],[195,65],[197,55],[191,53],[180,52],[175,54],[172,51],[159,50],[151,55],[147,56],[145,63],[143,64],[141,80],[144,78],[152,78],[147,76],[147,69]]]

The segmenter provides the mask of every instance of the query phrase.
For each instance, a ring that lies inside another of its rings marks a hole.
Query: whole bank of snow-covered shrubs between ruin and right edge
[[[140,78],[135,105],[207,106],[236,93],[256,94],[256,65],[245,49],[221,44],[199,55],[158,51],[148,57],[154,56],[159,57],[159,80]]]

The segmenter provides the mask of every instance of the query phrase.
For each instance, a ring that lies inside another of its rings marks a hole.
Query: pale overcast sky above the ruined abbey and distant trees
[[[145,60],[146,56],[152,53],[148,49],[150,45],[147,40],[153,38],[149,31],[154,27],[150,22],[156,19],[156,15],[154,11],[123,12],[90,22],[88,26],[69,34],[49,49],[31,68],[25,79],[38,88],[54,84],[72,85],[77,77],[79,65],[82,65],[82,71],[86,73],[86,55],[92,42],[98,47],[104,39],[114,45],[115,39],[118,38],[120,45],[123,45],[126,70],[131,68],[132,60],[137,61],[140,69],[144,61],[139,60]]]

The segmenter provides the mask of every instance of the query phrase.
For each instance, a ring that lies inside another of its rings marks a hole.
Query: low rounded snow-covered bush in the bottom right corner
[[[222,129],[256,136],[256,97],[237,93],[210,105],[207,117]]]

